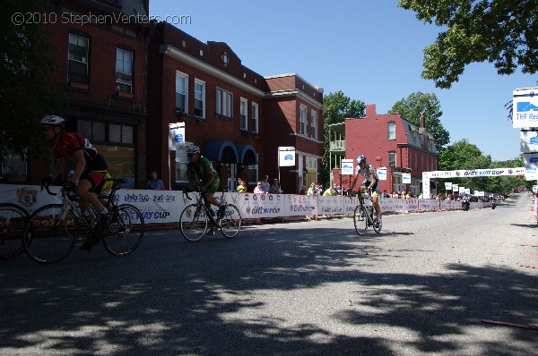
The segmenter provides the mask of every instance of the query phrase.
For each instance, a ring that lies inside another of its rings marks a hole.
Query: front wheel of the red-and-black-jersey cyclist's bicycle
[[[77,238],[74,214],[61,204],[50,204],[30,215],[22,242],[30,259],[48,264],[64,259],[73,250]]]

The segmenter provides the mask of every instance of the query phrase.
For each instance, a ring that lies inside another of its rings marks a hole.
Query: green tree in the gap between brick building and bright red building
[[[366,104],[363,101],[351,99],[343,94],[341,90],[329,93],[323,98],[323,129],[324,129],[324,157],[321,163],[321,182],[325,187],[330,182],[330,138],[329,125],[331,123],[343,123],[348,117],[364,117],[366,115]]]

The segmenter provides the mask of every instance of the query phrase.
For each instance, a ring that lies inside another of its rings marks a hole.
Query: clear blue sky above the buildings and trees
[[[441,104],[451,143],[467,139],[493,160],[519,156],[519,129],[504,105],[512,90],[538,76],[499,76],[493,64],[471,64],[452,89],[421,79],[422,50],[439,29],[396,6],[397,0],[151,0],[150,15],[190,16],[175,24],[201,41],[226,42],[242,64],[267,76],[296,72],[325,95],[342,90],[384,114],[421,91]]]

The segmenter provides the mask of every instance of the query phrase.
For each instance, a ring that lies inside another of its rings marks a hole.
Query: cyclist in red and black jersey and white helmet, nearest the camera
[[[80,207],[83,210],[88,208],[88,203],[90,203],[100,211],[101,220],[104,220],[108,216],[108,209],[103,206],[93,191],[100,186],[107,175],[108,167],[105,159],[80,133],[66,132],[64,118],[47,115],[41,119],[40,125],[55,154],[54,172],[43,180],[44,185],[62,182],[65,159],[73,160],[74,174],[69,180],[76,185]],[[91,250],[91,242],[86,240],[82,245],[82,250]]]

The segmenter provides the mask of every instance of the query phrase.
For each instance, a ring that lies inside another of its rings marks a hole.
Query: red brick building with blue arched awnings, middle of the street
[[[221,185],[243,177],[252,189],[278,177],[278,147],[296,148],[295,167],[280,172],[286,192],[299,191],[303,168],[317,174],[323,151],[323,89],[297,74],[263,77],[222,42],[201,42],[159,23],[150,46],[147,169],[171,189],[187,184],[188,145],[213,161]],[[180,144],[170,127],[184,126]]]

